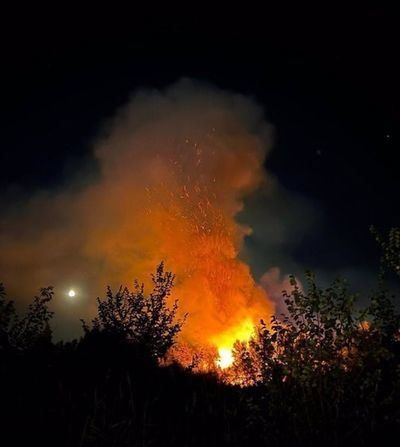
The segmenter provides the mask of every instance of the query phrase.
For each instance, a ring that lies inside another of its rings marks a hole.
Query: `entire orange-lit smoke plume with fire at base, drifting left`
[[[95,145],[95,183],[35,197],[23,217],[9,217],[5,278],[15,290],[13,271],[34,288],[70,280],[95,298],[164,260],[189,313],[180,340],[217,348],[229,366],[235,340],[273,312],[239,259],[250,229],[235,220],[265,179],[269,134],[261,109],[240,95],[188,80],[138,93]]]

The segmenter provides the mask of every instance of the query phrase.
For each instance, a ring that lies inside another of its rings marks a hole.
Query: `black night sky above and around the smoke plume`
[[[296,261],[373,268],[369,225],[400,224],[394,11],[67,16],[13,16],[3,30],[5,200],[62,187],[77,166],[90,165],[91,141],[132,91],[188,76],[249,94],[265,108],[276,134],[267,168],[320,216]]]

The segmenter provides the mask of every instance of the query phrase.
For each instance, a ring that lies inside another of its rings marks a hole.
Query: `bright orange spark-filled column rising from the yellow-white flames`
[[[170,163],[167,184],[147,187],[147,227],[156,228],[158,248],[177,274],[174,297],[189,313],[180,341],[216,348],[216,365],[225,369],[233,363],[235,341],[248,341],[272,306],[238,257],[248,229],[234,220],[235,204],[226,209],[218,177],[210,181],[201,167],[194,169],[197,154],[188,148],[184,160]],[[182,171],[196,176],[180,184]]]

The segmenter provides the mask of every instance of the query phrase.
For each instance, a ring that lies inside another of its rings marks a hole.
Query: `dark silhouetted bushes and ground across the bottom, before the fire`
[[[0,443],[388,442],[400,428],[400,315],[385,278],[400,276],[400,229],[374,234],[382,259],[363,308],[344,280],[322,289],[311,273],[302,286],[292,278],[287,312],[237,342],[233,366],[219,372],[165,362],[185,319],[167,304],[174,276],[163,264],[149,295],[137,282],[108,289],[70,343],[51,339],[52,288],[20,317],[1,286]]]

